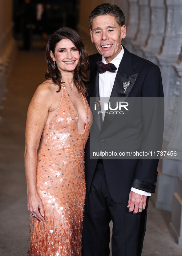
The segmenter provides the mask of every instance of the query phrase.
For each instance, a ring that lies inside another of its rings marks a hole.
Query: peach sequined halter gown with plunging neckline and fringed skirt
[[[87,122],[78,132],[77,115],[62,86],[61,103],[44,128],[45,138],[37,156],[37,192],[45,220],[30,219],[33,256],[80,256],[85,201],[84,148],[89,135],[90,107],[83,96]]]

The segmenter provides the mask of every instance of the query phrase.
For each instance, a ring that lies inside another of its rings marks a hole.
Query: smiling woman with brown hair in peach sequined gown
[[[84,147],[90,128],[87,53],[79,34],[71,28],[53,33],[46,61],[47,80],[34,93],[26,123],[28,255],[76,256],[81,255]]]

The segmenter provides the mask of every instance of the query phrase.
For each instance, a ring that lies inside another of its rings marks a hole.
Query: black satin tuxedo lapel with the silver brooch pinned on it
[[[127,53],[129,53],[129,52],[127,51]],[[123,55],[123,57],[124,57],[124,55]],[[135,73],[130,76],[127,76],[122,69],[122,64],[123,64],[123,62],[121,61],[119,68],[118,68],[116,78],[115,78],[113,89],[111,92],[111,97],[123,98],[122,101],[125,101],[129,95],[129,93],[131,92],[131,89],[133,88],[133,85],[135,84],[135,81],[136,81],[139,73]],[[130,70],[131,70],[131,67],[130,67]],[[123,82],[128,82],[128,81],[130,81],[130,85],[126,89],[126,92],[124,92]],[[115,101],[113,102],[113,100],[111,100],[111,106],[113,108],[115,108],[116,102]],[[108,111],[109,111],[109,108],[108,108]],[[114,114],[105,114],[102,130],[111,122],[111,120],[115,117],[115,115],[116,115],[116,111],[114,112]]]

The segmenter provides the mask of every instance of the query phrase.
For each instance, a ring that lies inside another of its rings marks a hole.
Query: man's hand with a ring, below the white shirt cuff
[[[128,208],[129,212],[138,213],[142,212],[146,206],[147,196],[142,196],[133,191],[130,191],[129,200],[128,200]],[[142,209],[141,209],[142,208]]]

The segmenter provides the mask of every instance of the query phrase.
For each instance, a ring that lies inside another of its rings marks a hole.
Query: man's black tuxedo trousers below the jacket
[[[103,164],[98,163],[90,193],[85,201],[82,255],[109,256],[111,219],[113,222],[112,256],[141,255],[148,199],[146,209],[137,214],[129,213],[127,204],[112,200]]]

